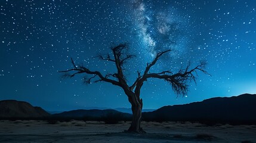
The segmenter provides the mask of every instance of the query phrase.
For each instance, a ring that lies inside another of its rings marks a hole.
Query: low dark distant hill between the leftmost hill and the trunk
[[[53,114],[54,117],[64,117],[64,118],[73,118],[73,119],[78,119],[82,117],[100,118],[100,117],[106,117],[111,115],[119,115],[120,117],[125,117],[125,118],[131,117],[131,114],[122,113],[120,111],[116,111],[112,109],[106,109],[106,110],[81,109],[81,110],[64,111],[63,113]]]

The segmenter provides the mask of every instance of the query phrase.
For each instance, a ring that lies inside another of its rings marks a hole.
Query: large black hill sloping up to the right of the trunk
[[[143,113],[143,120],[253,122],[256,123],[256,95],[216,97],[184,105],[168,105]]]

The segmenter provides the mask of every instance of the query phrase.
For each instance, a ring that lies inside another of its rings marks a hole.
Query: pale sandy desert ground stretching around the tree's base
[[[143,122],[146,134],[125,133],[129,122],[0,120],[0,142],[241,142],[256,143],[256,126]]]

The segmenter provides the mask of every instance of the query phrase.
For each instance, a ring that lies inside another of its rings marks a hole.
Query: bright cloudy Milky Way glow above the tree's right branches
[[[184,52],[184,43],[188,42],[184,32],[189,30],[189,16],[182,17],[172,7],[155,8],[153,4],[146,5],[144,2],[135,1],[134,17],[138,36],[144,43],[143,48],[146,48],[146,52],[152,57],[166,49],[172,49],[174,58],[177,57],[174,53]]]

